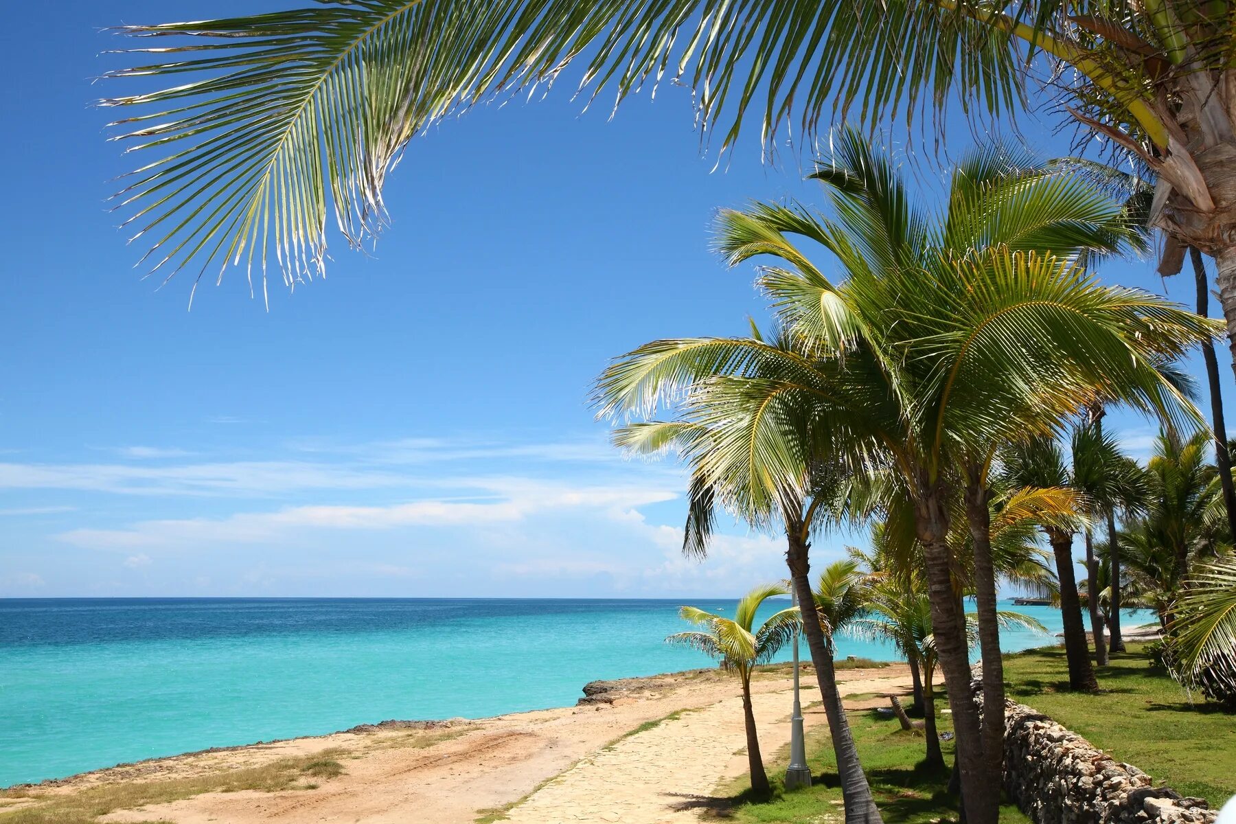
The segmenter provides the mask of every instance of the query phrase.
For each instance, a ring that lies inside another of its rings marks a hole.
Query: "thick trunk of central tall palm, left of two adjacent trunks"
[[[925,484],[926,486],[926,484]],[[948,546],[948,510],[943,490],[932,484],[918,495],[915,529],[923,547],[927,593],[936,639],[936,655],[948,687],[957,735],[957,766],[962,776],[963,813],[969,824],[996,824],[1000,786],[986,780],[979,708],[970,688],[970,656],[965,615],[953,586],[953,551]]]

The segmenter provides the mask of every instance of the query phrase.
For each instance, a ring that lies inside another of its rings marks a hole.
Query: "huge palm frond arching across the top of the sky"
[[[838,109],[912,115],[928,90],[1009,105],[1023,82],[1011,36],[913,0],[320,0],[120,31],[158,44],[110,77],[164,84],[104,103],[153,158],[119,199],[156,268],[234,262],[252,278],[269,252],[289,283],[321,271],[328,222],[353,245],[379,229],[386,175],[414,135],[548,86],[576,58],[581,85],[617,100],[666,73],[692,86],[722,148],[751,116],[771,145],[794,112],[810,142]]]

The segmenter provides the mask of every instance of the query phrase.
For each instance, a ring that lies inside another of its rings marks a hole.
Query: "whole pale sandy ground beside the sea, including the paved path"
[[[838,673],[843,694],[910,688],[905,666]],[[159,759],[85,773],[36,792],[74,793],[106,782],[157,781],[269,763],[323,750],[345,773],[313,789],[204,793],[116,810],[101,822],[173,824],[471,824],[507,808],[517,824],[697,820],[717,787],[747,770],[738,684],[716,672],[632,679],[612,703],[457,721],[431,730],[377,729]],[[818,698],[812,677],[803,703]],[[790,681],[754,683],[760,746],[770,760],[789,741]],[[883,702],[883,699],[880,699]],[[868,702],[864,702],[868,703]],[[666,715],[684,712],[666,719]],[[823,713],[808,709],[808,725]],[[661,720],[664,719],[664,720]],[[648,721],[646,729],[639,729]],[[635,731],[638,730],[638,731]]]

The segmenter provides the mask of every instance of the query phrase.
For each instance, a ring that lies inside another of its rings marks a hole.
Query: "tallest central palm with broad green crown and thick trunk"
[[[722,212],[718,237],[732,264],[772,256],[760,285],[806,353],[749,338],[655,341],[602,376],[602,413],[649,414],[688,393],[697,423],[726,427],[703,473],[742,474],[743,488],[768,500],[802,487],[805,461],[896,478],[922,546],[967,817],[988,824],[999,781],[969,700],[949,544],[963,463],[981,468],[974,456],[1053,430],[1100,392],[1195,419],[1153,363],[1214,326],[1086,274],[1078,250],[1119,247],[1122,221],[1085,182],[984,152],[959,166],[944,214],[932,216],[853,132],[815,177],[828,185],[834,219],[755,204]],[[844,279],[826,278],[800,238],[831,253]],[[787,441],[787,430],[801,435]],[[980,609],[979,620],[994,616]]]

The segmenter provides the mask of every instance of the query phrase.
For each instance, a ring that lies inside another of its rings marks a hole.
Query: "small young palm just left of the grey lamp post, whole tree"
[[[755,734],[755,713],[751,709],[751,671],[758,663],[772,660],[794,637],[798,626],[798,608],[782,609],[754,629],[755,613],[769,598],[787,593],[779,583],[764,584],[743,595],[734,608],[734,616],[722,618],[695,607],[684,607],[679,614],[698,626],[688,633],[676,633],[665,639],[705,652],[721,661],[721,668],[733,672],[743,686],[743,721],[747,725],[747,760],[751,771],[751,789],[766,796],[769,778],[760,757],[760,740]]]

